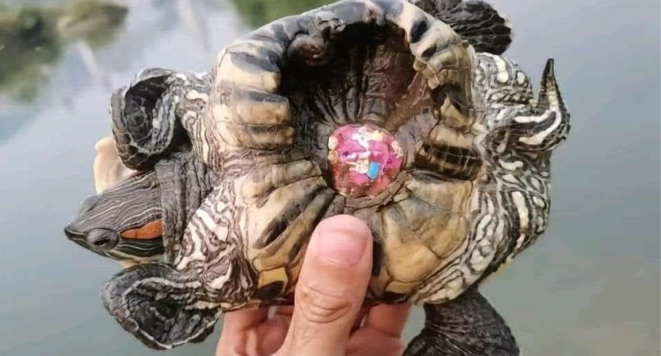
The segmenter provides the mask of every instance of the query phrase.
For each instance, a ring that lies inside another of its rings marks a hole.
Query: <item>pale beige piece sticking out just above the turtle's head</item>
[[[94,158],[94,187],[97,194],[112,188],[118,182],[134,174],[133,169],[123,165],[117,153],[115,139],[105,136],[94,145],[96,158]]]

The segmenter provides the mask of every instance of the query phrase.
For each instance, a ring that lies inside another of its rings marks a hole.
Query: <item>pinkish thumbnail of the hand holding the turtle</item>
[[[371,234],[368,227],[351,216],[334,216],[324,220],[315,230],[316,253],[328,262],[353,265],[360,262]]]

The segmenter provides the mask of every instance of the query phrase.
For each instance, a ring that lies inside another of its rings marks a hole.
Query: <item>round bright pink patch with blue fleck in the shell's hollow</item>
[[[388,189],[402,161],[397,140],[373,125],[344,125],[328,138],[333,185],[344,196],[373,197]]]

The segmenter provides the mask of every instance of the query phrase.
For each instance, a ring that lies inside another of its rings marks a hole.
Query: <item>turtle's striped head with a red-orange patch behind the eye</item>
[[[85,199],[64,231],[76,244],[109,258],[160,260],[163,228],[156,172],[138,172]]]

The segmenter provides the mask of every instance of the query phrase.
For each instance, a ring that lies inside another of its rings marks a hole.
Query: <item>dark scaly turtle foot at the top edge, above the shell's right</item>
[[[510,21],[483,1],[409,0],[450,25],[477,52],[502,54],[512,43]]]

